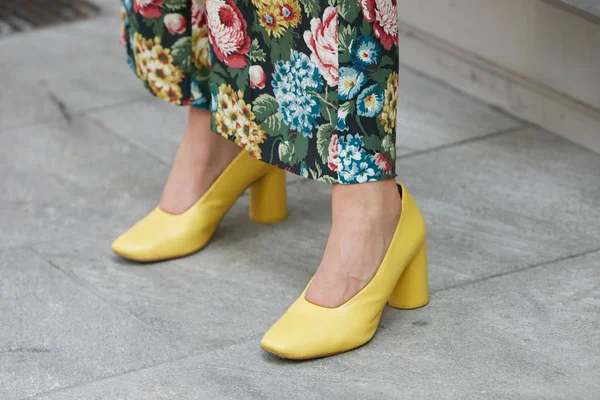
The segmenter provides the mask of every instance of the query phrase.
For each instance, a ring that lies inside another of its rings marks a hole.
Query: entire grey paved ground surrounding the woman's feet
[[[428,221],[431,304],[354,352],[258,343],[315,271],[329,188],[240,199],[188,258],[111,240],[152,209],[185,110],[140,88],[117,8],[0,39],[0,399],[600,398],[600,156],[400,71],[397,167]]]

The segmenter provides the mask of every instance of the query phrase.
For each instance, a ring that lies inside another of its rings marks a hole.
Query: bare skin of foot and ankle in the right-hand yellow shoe
[[[331,231],[306,300],[334,308],[362,290],[383,261],[401,210],[393,179],[333,185]]]

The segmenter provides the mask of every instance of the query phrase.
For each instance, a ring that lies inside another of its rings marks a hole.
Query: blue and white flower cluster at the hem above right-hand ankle
[[[359,135],[348,135],[339,139],[338,179],[340,183],[364,183],[377,181],[381,170],[375,163],[375,157],[368,155],[363,148]]]

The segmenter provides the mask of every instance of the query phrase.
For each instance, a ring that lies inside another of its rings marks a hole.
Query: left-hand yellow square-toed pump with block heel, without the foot
[[[192,254],[208,243],[221,218],[248,187],[252,220],[268,224],[287,217],[285,172],[242,150],[192,207],[178,215],[156,207],[115,240],[112,249],[143,262]]]

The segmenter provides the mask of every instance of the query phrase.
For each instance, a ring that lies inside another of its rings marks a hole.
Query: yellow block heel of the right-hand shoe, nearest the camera
[[[388,304],[403,310],[412,310],[429,303],[427,278],[427,244],[423,244],[417,256],[406,266]]]

